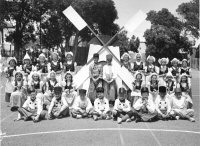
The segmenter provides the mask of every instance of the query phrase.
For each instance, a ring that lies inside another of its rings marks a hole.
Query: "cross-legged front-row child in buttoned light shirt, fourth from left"
[[[111,111],[109,108],[108,99],[104,97],[104,88],[98,87],[96,89],[97,98],[94,101],[93,118],[95,121],[98,119],[111,119]]]

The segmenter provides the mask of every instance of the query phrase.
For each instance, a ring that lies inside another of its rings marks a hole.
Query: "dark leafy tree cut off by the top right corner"
[[[182,3],[176,9],[179,15],[184,19],[183,24],[185,27],[185,33],[191,32],[191,34],[199,37],[199,0],[192,0],[187,3]]]

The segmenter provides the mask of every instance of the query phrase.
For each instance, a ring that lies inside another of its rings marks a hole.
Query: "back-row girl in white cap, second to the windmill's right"
[[[144,63],[142,62],[142,55],[140,53],[136,54],[136,61],[133,63],[133,72],[144,71]]]

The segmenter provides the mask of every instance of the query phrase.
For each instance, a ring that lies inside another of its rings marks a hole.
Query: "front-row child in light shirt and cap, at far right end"
[[[172,96],[172,111],[170,112],[170,115],[177,120],[181,118],[195,122],[194,109],[191,108],[191,104],[191,100],[182,95],[181,88],[176,88],[175,94]]]

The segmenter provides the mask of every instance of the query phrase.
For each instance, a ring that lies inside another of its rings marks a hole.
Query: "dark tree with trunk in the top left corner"
[[[34,2],[37,2],[37,7],[34,7]],[[19,60],[23,47],[30,41],[36,41],[34,22],[39,22],[41,14],[48,9],[48,0],[4,0],[2,7],[5,13],[2,20],[15,23],[15,31],[6,39],[14,43],[15,56]]]

